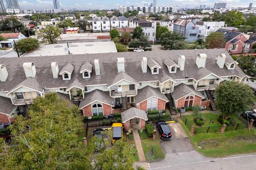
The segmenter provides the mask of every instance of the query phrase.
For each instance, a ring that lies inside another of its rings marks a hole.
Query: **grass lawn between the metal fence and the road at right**
[[[190,136],[187,126],[181,120],[179,122],[195,149],[207,157],[225,157],[256,152],[256,130],[254,128],[250,132],[244,128],[237,131],[226,131],[224,134],[209,132]]]

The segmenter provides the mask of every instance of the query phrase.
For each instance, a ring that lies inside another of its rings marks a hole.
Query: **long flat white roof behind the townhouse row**
[[[97,54],[97,53],[117,53],[115,43],[107,42],[89,42],[89,43],[69,43],[70,54]],[[26,53],[23,57],[38,56],[57,56],[68,55],[67,43],[47,44],[39,47],[37,50]]]

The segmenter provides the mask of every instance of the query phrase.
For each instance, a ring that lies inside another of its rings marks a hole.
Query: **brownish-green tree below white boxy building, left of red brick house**
[[[221,46],[222,43],[226,43],[226,39],[222,32],[212,32],[205,39],[207,48],[224,48]]]

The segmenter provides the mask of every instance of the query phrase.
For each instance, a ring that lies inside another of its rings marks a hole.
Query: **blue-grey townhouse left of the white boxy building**
[[[173,31],[185,37],[185,41],[193,43],[198,38],[199,28],[189,20],[178,19],[173,23]]]

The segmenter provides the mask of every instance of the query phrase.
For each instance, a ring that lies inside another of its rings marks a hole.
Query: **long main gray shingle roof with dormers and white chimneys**
[[[47,56],[47,57],[20,57],[20,58],[0,58],[0,64],[4,64],[9,73],[5,82],[0,82],[0,90],[9,91],[17,86],[20,82],[26,80],[26,76],[23,70],[23,63],[34,62],[36,66],[36,78],[39,83],[38,88],[60,88],[67,87],[76,78],[84,86],[95,84],[107,84],[111,85],[113,80],[117,76],[117,57],[125,58],[125,73],[130,75],[136,82],[143,81],[161,81],[164,82],[168,79],[184,79],[195,78],[198,80],[198,74],[203,74],[201,69],[198,69],[196,65],[197,54],[207,54],[207,60],[205,69],[209,72],[217,74],[218,76],[232,76],[238,75],[244,77],[243,71],[236,66],[234,70],[228,70],[225,66],[220,69],[216,63],[215,58],[219,54],[225,54],[226,62],[234,62],[233,58],[228,54],[225,49],[190,49],[190,50],[169,50],[169,51],[154,51],[154,52],[123,52],[123,53],[105,53],[105,54],[84,54],[84,55],[65,55],[65,56]],[[185,70],[180,71],[177,69],[176,73],[169,73],[167,66],[164,64],[164,60],[169,58],[175,63],[178,63],[178,55],[185,55]],[[147,73],[143,73],[141,70],[141,57],[153,58],[162,69],[159,70],[159,74],[151,74],[149,67]],[[100,75],[95,75],[94,60],[98,59],[100,63]],[[59,68],[64,67],[68,63],[74,65],[74,71],[71,74],[71,80],[62,80],[59,76],[58,79],[52,78],[51,63],[58,62]],[[91,78],[83,79],[82,74],[79,72],[81,66],[89,62],[93,65]],[[195,74],[198,73],[198,74]],[[202,77],[202,75],[199,75]],[[30,80],[30,79],[29,79]],[[26,81],[30,84],[30,81]],[[174,88],[175,90],[175,88]]]

